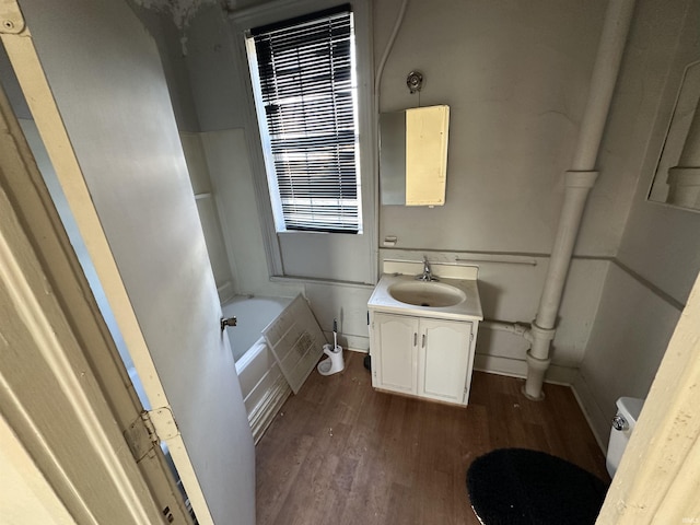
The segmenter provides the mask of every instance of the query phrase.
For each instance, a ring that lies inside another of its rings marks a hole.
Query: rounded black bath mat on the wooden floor
[[[544,452],[500,448],[471,463],[467,490],[486,525],[593,525],[607,486]]]

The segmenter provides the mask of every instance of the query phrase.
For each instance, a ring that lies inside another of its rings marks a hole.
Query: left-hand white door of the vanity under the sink
[[[416,394],[418,320],[400,315],[374,315],[375,343],[372,365],[375,386],[386,390]]]

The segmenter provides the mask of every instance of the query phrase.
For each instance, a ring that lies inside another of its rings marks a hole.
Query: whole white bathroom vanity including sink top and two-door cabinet
[[[372,386],[465,406],[483,319],[478,268],[434,264],[432,279],[425,268],[425,259],[384,261],[368,301]]]

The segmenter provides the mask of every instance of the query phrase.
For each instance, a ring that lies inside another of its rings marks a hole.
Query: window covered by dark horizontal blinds
[[[349,5],[250,30],[246,46],[277,231],[361,233]]]

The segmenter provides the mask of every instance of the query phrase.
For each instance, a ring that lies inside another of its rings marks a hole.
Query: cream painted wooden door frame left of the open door
[[[78,523],[191,523],[1,89],[0,131],[3,419]]]

